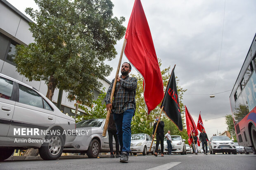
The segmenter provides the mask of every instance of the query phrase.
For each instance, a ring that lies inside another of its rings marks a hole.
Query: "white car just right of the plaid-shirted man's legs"
[[[133,155],[137,155],[137,153],[142,153],[146,155],[149,153],[149,148],[152,142],[152,138],[145,133],[133,134],[131,135],[130,141],[130,150]],[[153,142],[150,153],[154,154],[155,152],[155,143]]]

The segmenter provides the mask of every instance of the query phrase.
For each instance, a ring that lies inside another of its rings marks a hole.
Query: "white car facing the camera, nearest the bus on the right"
[[[237,154],[235,143],[228,136],[212,136],[209,142],[210,154],[224,152]]]

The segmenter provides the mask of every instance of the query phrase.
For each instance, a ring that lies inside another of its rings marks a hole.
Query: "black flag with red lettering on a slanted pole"
[[[165,90],[164,100],[162,101],[160,108],[163,107],[163,111],[166,113],[169,119],[176,124],[180,131],[183,131],[174,68],[175,66],[173,67],[171,77]]]

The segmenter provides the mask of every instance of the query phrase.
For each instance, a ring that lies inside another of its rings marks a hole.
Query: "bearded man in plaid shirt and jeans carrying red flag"
[[[121,147],[120,162],[128,163],[128,155],[130,152],[130,138],[131,138],[131,122],[135,113],[135,95],[137,88],[137,78],[130,77],[132,67],[129,63],[124,62],[121,67],[121,77],[117,75],[116,88],[114,93],[113,104],[110,102],[110,95],[114,84],[112,80],[106,96],[106,107],[111,114],[114,114],[114,121],[116,122],[117,136]]]

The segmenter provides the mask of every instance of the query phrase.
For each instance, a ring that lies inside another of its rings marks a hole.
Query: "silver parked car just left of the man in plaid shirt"
[[[97,158],[101,152],[110,152],[109,135],[102,137],[106,119],[88,119],[76,123],[78,132],[70,146],[64,147],[64,153],[87,153],[89,158]],[[116,142],[113,138],[113,149],[116,152]]]

